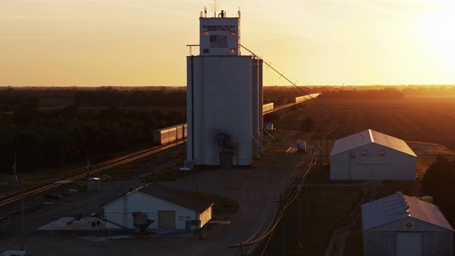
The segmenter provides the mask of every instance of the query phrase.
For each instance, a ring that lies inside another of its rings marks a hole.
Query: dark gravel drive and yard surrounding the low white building
[[[289,179],[302,155],[266,153],[250,168],[215,169],[200,171],[178,181],[163,182],[165,186],[185,191],[212,193],[232,198],[239,202],[240,210],[233,215],[215,218],[230,220],[231,223],[212,225],[207,238],[198,235],[183,237],[146,236],[139,238],[102,239],[104,232],[98,227],[92,230],[36,230],[58,218],[73,216],[99,206],[109,199],[121,195],[129,188],[141,186],[139,180],[109,181],[102,183],[100,191],[82,192],[44,205],[25,215],[24,250],[27,255],[240,255],[250,247],[230,247],[241,242],[252,241],[264,233],[265,227],[274,218],[279,206],[274,198],[283,193],[294,182]],[[301,171],[301,170],[299,170]],[[74,186],[68,185],[68,186]],[[67,187],[68,189],[69,187]],[[40,204],[43,198],[26,205]],[[18,208],[18,206],[11,206]],[[6,212],[10,209],[1,209]],[[0,221],[0,252],[21,249],[21,218],[13,215]],[[262,227],[262,228],[261,228]],[[249,238],[252,238],[249,240]],[[253,245],[256,245],[254,243]]]

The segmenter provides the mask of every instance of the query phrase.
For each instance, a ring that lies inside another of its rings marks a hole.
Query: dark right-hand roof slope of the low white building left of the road
[[[213,206],[212,202],[205,201],[196,196],[192,196],[188,192],[177,191],[158,183],[148,183],[145,186],[137,188],[136,191],[149,196],[153,196],[154,198],[159,198],[169,203],[176,204],[177,206],[182,206],[189,210],[198,211],[198,213],[201,213],[204,210],[210,208],[210,206]]]

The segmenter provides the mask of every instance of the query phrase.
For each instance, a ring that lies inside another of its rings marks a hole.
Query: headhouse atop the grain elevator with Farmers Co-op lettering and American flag
[[[240,11],[237,18],[200,16],[200,55],[240,55]]]

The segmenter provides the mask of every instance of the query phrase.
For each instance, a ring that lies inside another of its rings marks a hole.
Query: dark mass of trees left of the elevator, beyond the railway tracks
[[[3,110],[0,113],[1,169],[11,171],[14,155],[18,168],[36,171],[82,161],[87,157],[87,151],[93,158],[139,144],[151,145],[154,130],[186,122],[182,112],[125,109],[119,107],[118,101],[112,100],[114,97],[122,100],[128,95],[138,94],[114,90],[79,91],[73,93],[73,105],[40,110],[40,99],[31,96],[29,91],[0,91]],[[175,106],[181,105],[181,102],[171,99],[181,99],[181,94],[185,95],[185,92],[144,92],[144,96],[139,97],[151,100],[153,104]],[[80,95],[89,100],[80,100]],[[137,103],[141,105],[143,102]],[[81,105],[85,108],[81,109]],[[100,110],[87,106],[104,108]]]

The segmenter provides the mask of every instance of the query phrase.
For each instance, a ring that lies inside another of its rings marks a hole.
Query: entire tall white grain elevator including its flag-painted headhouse
[[[187,57],[186,166],[250,166],[262,148],[262,60],[240,54],[240,11],[200,21]]]

